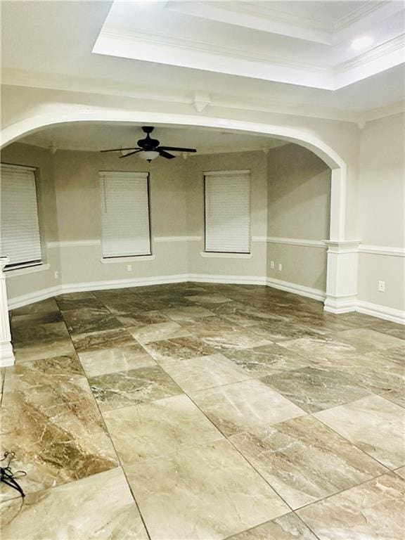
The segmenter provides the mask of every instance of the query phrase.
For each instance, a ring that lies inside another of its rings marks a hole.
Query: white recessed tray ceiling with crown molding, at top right
[[[404,43],[400,1],[117,0],[93,52],[335,90],[403,63]]]

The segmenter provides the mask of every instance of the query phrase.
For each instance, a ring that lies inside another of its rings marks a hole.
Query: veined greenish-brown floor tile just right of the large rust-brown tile
[[[89,378],[89,384],[101,411],[183,393],[159,366],[98,375]]]

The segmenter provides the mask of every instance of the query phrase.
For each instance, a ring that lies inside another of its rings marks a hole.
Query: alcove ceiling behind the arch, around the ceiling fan
[[[151,136],[164,146],[196,148],[198,154],[266,150],[285,144],[284,141],[266,136],[201,127],[156,126]],[[81,122],[47,127],[25,136],[19,142],[61,150],[98,151],[136,146],[136,141],[144,137],[141,127],[136,125]]]

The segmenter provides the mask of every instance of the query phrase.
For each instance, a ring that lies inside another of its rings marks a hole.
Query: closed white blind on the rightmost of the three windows
[[[250,253],[250,172],[205,173],[205,251]]]

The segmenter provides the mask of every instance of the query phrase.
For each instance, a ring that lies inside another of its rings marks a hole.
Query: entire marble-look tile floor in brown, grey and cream
[[[405,536],[403,326],[271,288],[72,293],[11,314],[2,540]]]

